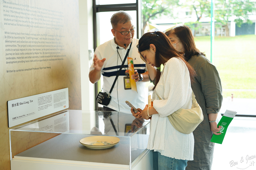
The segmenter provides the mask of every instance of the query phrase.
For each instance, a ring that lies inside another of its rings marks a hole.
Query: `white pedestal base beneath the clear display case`
[[[153,170],[152,151],[145,150],[132,162],[132,170]],[[128,165],[95,162],[67,161],[57,159],[15,158],[11,160],[11,170],[130,170]]]

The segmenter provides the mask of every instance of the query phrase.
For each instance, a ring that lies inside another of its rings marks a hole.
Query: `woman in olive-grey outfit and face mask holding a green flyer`
[[[222,103],[222,87],[216,67],[195,45],[188,26],[176,26],[165,33],[177,50],[184,53],[188,63],[196,71],[195,83],[191,85],[196,100],[203,110],[204,121],[193,131],[195,137],[194,160],[188,161],[186,170],[210,170],[212,166],[214,143],[212,134],[220,131],[217,116]]]

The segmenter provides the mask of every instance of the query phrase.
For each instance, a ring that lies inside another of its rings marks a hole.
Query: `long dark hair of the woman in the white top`
[[[183,53],[177,51],[171,44],[170,39],[162,32],[150,32],[145,33],[139,40],[138,50],[139,52],[149,50],[150,44],[154,44],[156,47],[155,54],[155,66],[156,66],[156,84],[153,90],[156,88],[157,83],[159,82],[161,71],[161,64],[166,63],[172,57],[180,58],[186,66],[188,67],[190,81],[194,82],[194,77],[196,76],[195,70],[191,65],[185,60]],[[142,55],[141,55],[142,56]],[[143,57],[143,56],[142,56]],[[145,58],[144,58],[145,59]],[[146,59],[145,59],[146,60]]]

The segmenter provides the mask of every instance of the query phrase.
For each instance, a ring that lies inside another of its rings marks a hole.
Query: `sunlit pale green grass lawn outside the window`
[[[210,36],[195,37],[196,47],[210,60]],[[221,79],[223,97],[256,98],[256,35],[215,37],[212,63]],[[225,91],[225,89],[253,89]]]

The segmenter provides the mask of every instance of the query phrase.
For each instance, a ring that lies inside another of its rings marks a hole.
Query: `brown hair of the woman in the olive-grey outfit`
[[[200,52],[199,49],[196,48],[196,44],[194,41],[194,37],[190,28],[186,25],[175,26],[170,30],[165,32],[165,35],[174,34],[176,37],[182,42],[185,54],[184,57],[188,61],[194,55],[204,55],[204,53]]]

